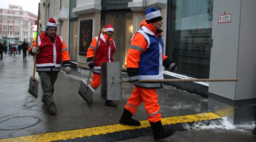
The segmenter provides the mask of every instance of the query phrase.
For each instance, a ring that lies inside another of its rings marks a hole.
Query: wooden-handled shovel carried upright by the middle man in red
[[[95,52],[94,52],[94,56],[93,56],[93,60],[92,60],[92,65],[94,64],[95,55],[96,55],[96,52],[97,52],[97,49],[98,49],[98,45],[99,45],[99,41],[100,41],[100,34],[101,34],[101,30],[102,30],[103,23],[104,23],[104,21],[101,22],[100,33],[99,33],[98,40],[97,40],[97,44],[96,44],[96,47],[95,47]],[[82,99],[84,99],[89,105],[91,105],[92,96],[93,96],[93,93],[95,92],[95,90],[89,85],[89,80],[90,80],[90,76],[91,76],[91,71],[92,71],[92,69],[90,69],[87,82],[85,82],[85,80],[81,80],[80,87],[79,87],[79,91],[78,91],[78,94],[79,94],[79,95],[82,97]]]

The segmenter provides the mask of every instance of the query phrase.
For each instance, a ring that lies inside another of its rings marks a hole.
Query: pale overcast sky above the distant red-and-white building
[[[8,9],[9,4],[22,6],[24,11],[38,14],[38,3],[40,0],[0,0],[0,8]]]

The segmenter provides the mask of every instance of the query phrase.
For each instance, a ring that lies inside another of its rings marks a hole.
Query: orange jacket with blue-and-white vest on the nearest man
[[[131,39],[126,62],[130,82],[136,82],[139,79],[163,79],[162,66],[168,69],[176,66],[163,54],[161,32],[156,34],[156,28],[152,24],[147,24],[145,20],[141,23],[141,30]],[[162,88],[160,82],[139,82],[136,86]]]

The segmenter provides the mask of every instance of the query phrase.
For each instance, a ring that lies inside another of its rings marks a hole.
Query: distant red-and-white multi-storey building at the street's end
[[[8,9],[0,9],[0,38],[17,44],[33,40],[33,25],[37,14],[24,11],[22,6],[9,4]]]

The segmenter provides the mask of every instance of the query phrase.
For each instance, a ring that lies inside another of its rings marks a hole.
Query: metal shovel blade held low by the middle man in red
[[[86,89],[86,82],[85,80],[81,80],[80,83],[80,87],[79,87],[79,91],[78,94],[82,97],[82,99],[84,99],[89,105],[91,105],[91,99],[93,96],[93,93],[95,92],[95,90],[88,85],[87,89]],[[86,89],[86,90],[85,90]]]

